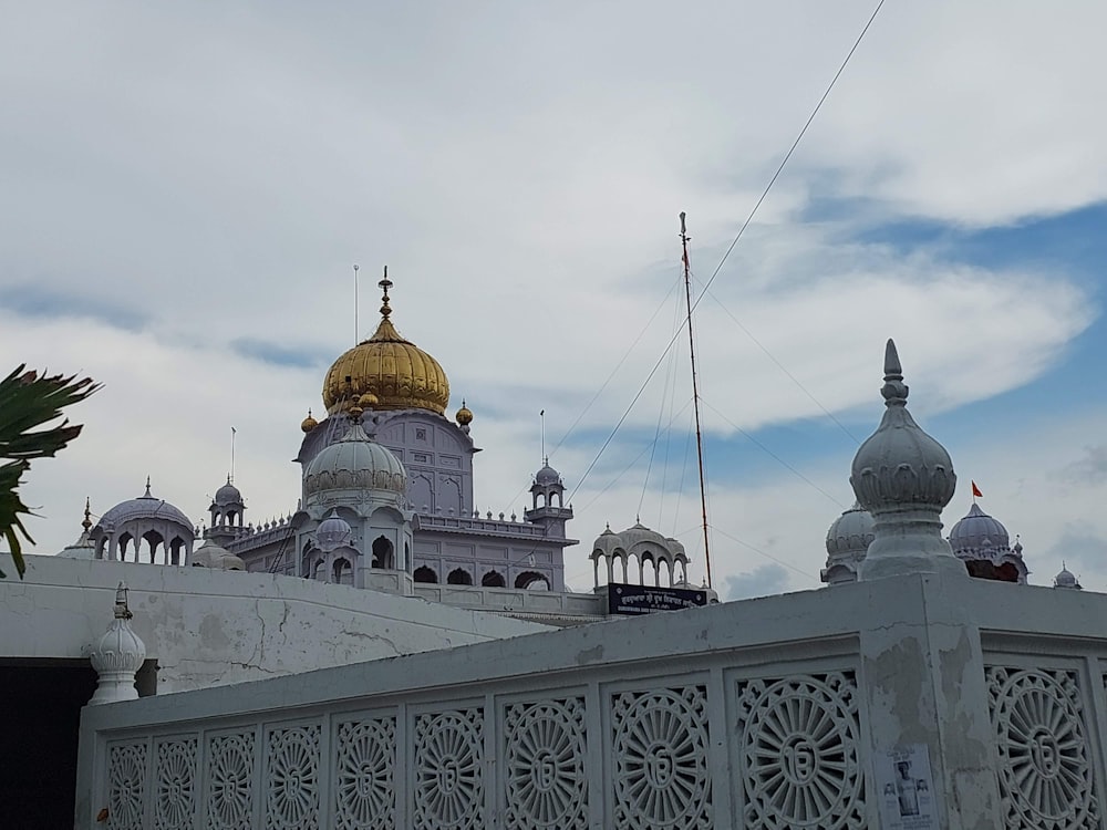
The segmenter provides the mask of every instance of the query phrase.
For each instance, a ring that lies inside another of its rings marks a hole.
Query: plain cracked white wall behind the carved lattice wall
[[[28,557],[0,580],[0,655],[82,657],[127,584],[165,694],[547,631],[413,596],[265,573]]]

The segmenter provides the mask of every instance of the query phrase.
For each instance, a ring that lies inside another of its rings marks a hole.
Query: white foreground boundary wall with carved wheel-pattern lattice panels
[[[1101,828],[1105,677],[1105,595],[896,575],[90,706],[76,820]]]

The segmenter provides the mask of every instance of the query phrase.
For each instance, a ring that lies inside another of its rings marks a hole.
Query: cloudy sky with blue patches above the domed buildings
[[[393,322],[474,412],[476,506],[675,535],[713,583],[819,585],[894,338],[917,421],[1031,581],[1107,590],[1107,6],[888,0],[3,3],[0,354],[103,383],[37,461],[34,552],[230,466],[296,508],[330,363]],[[352,266],[360,266],[358,320]],[[672,344],[672,347],[670,347]],[[618,428],[617,428],[618,426]]]

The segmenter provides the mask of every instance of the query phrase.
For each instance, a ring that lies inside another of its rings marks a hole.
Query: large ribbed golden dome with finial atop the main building
[[[449,382],[434,357],[400,336],[389,317],[387,269],[379,283],[384,290],[381,324],[364,340],[331,365],[323,381],[323,404],[335,414],[354,403],[360,408],[363,396],[372,395],[374,409],[430,409],[445,414],[449,403]]]

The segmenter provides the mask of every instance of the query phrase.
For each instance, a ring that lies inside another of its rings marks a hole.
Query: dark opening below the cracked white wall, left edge
[[[0,803],[4,827],[73,827],[81,707],[96,689],[87,661],[0,663]]]

